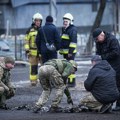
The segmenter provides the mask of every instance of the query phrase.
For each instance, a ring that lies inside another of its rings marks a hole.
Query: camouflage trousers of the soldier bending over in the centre
[[[49,99],[51,90],[56,89],[55,98],[52,101],[52,107],[58,107],[64,94],[65,85],[60,73],[51,65],[40,67],[38,77],[43,88],[43,92],[36,103],[37,106],[43,106]]]

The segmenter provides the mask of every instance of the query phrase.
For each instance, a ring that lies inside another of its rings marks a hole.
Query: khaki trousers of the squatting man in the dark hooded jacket
[[[102,104],[98,102],[90,92],[81,99],[80,104],[97,111],[102,107]]]

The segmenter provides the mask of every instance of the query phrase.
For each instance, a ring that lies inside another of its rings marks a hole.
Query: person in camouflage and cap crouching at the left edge
[[[7,109],[6,99],[14,96],[15,90],[10,80],[10,70],[14,68],[12,57],[0,58],[0,109]]]

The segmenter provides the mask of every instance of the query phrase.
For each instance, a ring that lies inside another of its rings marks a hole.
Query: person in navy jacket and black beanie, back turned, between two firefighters
[[[46,17],[46,23],[38,31],[36,45],[45,63],[50,59],[57,59],[57,51],[60,49],[60,34],[53,24],[52,16]]]

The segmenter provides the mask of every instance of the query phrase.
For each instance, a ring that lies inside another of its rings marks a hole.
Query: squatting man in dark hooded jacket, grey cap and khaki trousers
[[[100,113],[111,112],[112,103],[120,96],[116,85],[116,72],[99,55],[93,56],[91,61],[93,67],[84,82],[88,93],[81,99],[80,106]]]

